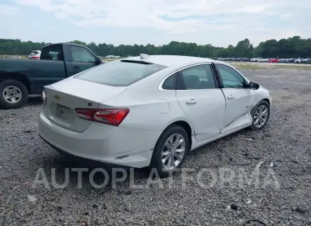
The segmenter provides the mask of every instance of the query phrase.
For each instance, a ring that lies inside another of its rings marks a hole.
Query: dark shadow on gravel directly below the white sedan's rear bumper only
[[[52,180],[62,184],[66,180],[66,177],[68,177],[68,186],[70,186],[71,189],[95,189],[100,192],[111,191],[113,189],[112,183],[114,180],[115,182],[117,181],[117,190],[126,191],[130,187],[131,170],[133,170],[132,179],[137,180],[138,183],[140,180],[146,180],[149,178],[150,174],[150,169],[147,167],[142,169],[131,169],[130,167],[106,164],[95,160],[70,156],[68,154],[64,155],[63,153],[58,153],[56,151],[55,155],[44,158],[41,163],[50,187],[53,187],[51,183]],[[55,175],[53,175],[52,171],[55,171]],[[95,171],[97,172],[95,173]],[[115,171],[114,174],[113,171]],[[79,173],[81,173],[80,179]],[[124,177],[123,181],[119,182],[118,180],[121,180],[120,178],[122,178],[122,176],[126,177]],[[81,187],[78,186],[79,181],[82,185]],[[100,187],[100,189],[96,187],[100,185],[103,185],[103,187]]]

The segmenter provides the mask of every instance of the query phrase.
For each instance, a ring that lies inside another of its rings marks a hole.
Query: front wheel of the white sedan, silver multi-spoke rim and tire
[[[263,129],[270,117],[270,104],[268,104],[265,100],[262,100],[254,106],[251,111],[251,115],[253,122],[252,126],[249,126],[249,129],[252,131]]]

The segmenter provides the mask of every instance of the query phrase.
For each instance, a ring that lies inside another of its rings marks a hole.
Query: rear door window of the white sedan
[[[216,88],[214,76],[209,64],[191,66],[178,72],[177,89]]]

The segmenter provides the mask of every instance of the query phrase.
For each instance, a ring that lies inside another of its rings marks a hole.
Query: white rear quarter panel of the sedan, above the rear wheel
[[[157,76],[142,79],[140,82],[129,86],[121,95],[102,102],[100,108],[107,106],[110,108],[129,108],[129,115],[126,116],[120,126],[164,131],[173,122],[185,121],[191,126],[193,133],[191,121],[178,104],[176,91],[158,90],[158,85],[162,79],[170,73],[171,71],[167,70],[167,72],[164,71]],[[164,106],[165,100],[169,105],[168,108]]]

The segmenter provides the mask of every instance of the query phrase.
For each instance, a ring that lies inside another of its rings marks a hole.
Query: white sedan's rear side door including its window
[[[211,64],[198,64],[178,70],[176,97],[194,126],[198,143],[220,134],[225,97],[215,82]]]

